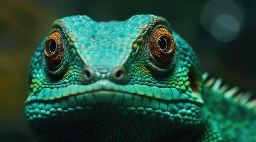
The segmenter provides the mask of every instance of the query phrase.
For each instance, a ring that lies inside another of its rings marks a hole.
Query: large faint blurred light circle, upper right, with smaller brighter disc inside
[[[211,0],[201,13],[202,26],[220,42],[234,40],[243,26],[243,7],[234,0]]]

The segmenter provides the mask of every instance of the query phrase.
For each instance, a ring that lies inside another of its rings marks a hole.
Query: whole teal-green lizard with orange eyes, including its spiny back
[[[31,58],[25,115],[44,142],[255,141],[256,100],[207,76],[164,17],[64,17]]]

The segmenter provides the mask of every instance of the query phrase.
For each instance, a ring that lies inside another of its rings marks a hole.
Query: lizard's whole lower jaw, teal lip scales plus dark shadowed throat
[[[185,110],[191,108],[194,109],[189,116]],[[158,100],[106,90],[26,106],[27,114],[34,117],[29,121],[30,127],[36,138],[42,141],[52,140],[50,138],[64,141],[73,138],[88,141],[155,141],[167,135],[171,138],[178,132],[200,127],[203,117],[190,123],[192,114],[202,115],[198,110],[201,110],[200,107],[189,102]]]

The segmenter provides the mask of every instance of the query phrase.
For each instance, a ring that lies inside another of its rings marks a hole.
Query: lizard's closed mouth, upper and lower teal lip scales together
[[[187,115],[186,109],[193,107],[192,111],[188,111],[188,115],[192,115],[193,111],[204,104],[198,94],[193,92],[185,94],[176,88],[120,85],[108,80],[99,80],[88,85],[44,88],[36,95],[30,95],[25,103],[29,122],[78,113],[94,117],[110,110],[113,113],[148,114],[146,116],[150,117],[160,115],[180,121],[182,116]],[[187,118],[189,117],[184,117],[184,120]]]

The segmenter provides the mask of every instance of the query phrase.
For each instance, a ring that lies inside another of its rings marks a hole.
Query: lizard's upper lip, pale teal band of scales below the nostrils
[[[95,100],[111,100],[113,96],[124,96],[129,98],[142,97],[153,100],[163,101],[181,101],[190,102],[197,105],[202,105],[203,100],[199,93],[181,93],[173,87],[156,87],[148,85],[121,85],[112,83],[109,80],[99,80],[95,83],[88,85],[68,85],[67,87],[60,88],[43,88],[36,95],[29,95],[26,104],[41,102],[41,101],[54,101],[62,98],[79,98],[80,96],[94,96]],[[99,97],[95,97],[99,96]],[[85,97],[84,97],[85,98]],[[122,98],[119,98],[119,101]],[[126,100],[126,99],[125,99]],[[79,101],[76,99],[76,101]],[[100,102],[100,101],[99,101]],[[107,102],[105,102],[107,103]]]

